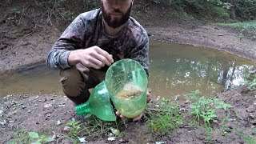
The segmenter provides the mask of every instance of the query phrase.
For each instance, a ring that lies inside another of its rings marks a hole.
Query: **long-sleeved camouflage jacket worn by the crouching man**
[[[146,70],[149,70],[149,38],[146,30],[129,18],[122,30],[114,37],[107,35],[102,26],[102,10],[96,9],[79,14],[62,36],[54,43],[50,50],[46,65],[53,69],[69,68],[67,58],[70,50],[86,49],[90,46],[99,46],[113,55],[114,62],[122,58],[131,58],[138,61]],[[108,66],[102,67],[106,71]]]

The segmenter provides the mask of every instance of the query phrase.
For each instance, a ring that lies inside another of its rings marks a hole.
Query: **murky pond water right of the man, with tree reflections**
[[[152,42],[150,88],[155,97],[175,97],[200,90],[214,95],[241,86],[255,62],[221,50]]]

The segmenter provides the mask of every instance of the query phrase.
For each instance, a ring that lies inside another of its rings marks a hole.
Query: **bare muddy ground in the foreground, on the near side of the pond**
[[[256,90],[248,91],[245,87],[239,87],[234,90],[228,90],[218,94],[217,98],[232,105],[228,110],[218,111],[216,122],[212,123],[211,142],[213,143],[244,143],[245,137],[235,133],[241,132],[248,138],[256,140]],[[151,101],[150,106],[155,106]],[[172,102],[175,102],[174,100]],[[74,105],[63,95],[56,94],[23,94],[8,95],[0,98],[0,138],[6,143],[17,135],[14,133],[22,132],[27,134],[36,131],[38,134],[53,136],[65,134],[65,126],[72,118],[81,120],[74,113]],[[122,137],[114,142],[107,140],[106,134],[94,138],[86,138],[90,143],[120,143],[126,140],[126,143],[204,143],[207,142],[207,132],[202,126],[191,125],[194,117],[189,114],[188,102],[181,102],[179,110],[183,114],[183,124],[178,129],[170,131],[170,134],[159,136],[149,130],[147,115],[140,122],[122,123],[118,129],[122,132]],[[228,130],[223,127],[227,126]],[[57,141],[58,140],[58,141]],[[57,143],[72,143],[63,137],[55,139]],[[254,141],[255,142],[255,141]]]

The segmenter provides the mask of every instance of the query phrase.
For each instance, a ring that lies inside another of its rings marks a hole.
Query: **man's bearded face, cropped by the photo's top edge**
[[[132,0],[102,0],[102,14],[105,22],[112,28],[125,24],[130,18]]]

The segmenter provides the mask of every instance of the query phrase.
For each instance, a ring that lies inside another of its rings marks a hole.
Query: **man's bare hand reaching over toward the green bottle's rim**
[[[105,64],[110,66],[114,62],[114,59],[111,54],[108,54],[100,47],[92,46],[87,49],[71,51],[68,62],[70,66],[74,66],[80,62],[83,66],[100,69]]]

